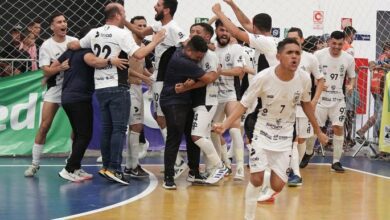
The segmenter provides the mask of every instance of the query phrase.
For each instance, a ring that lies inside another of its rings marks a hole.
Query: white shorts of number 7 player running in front
[[[261,147],[256,147],[256,144],[252,143],[252,147],[249,151],[250,173],[262,172],[269,167],[283,180],[283,182],[287,182],[287,169],[289,168],[291,160],[291,150],[270,151]]]

